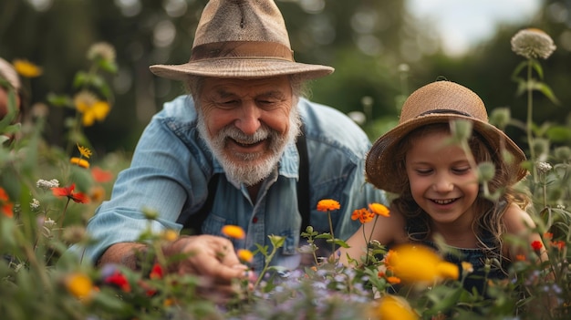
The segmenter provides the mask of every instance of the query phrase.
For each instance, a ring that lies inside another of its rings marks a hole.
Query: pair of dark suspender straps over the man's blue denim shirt
[[[297,210],[301,214],[301,232],[306,232],[309,226],[310,217],[310,203],[309,203],[309,159],[307,157],[307,143],[306,133],[304,126],[301,127],[301,135],[296,140],[297,153],[299,153],[299,180],[297,181]],[[214,197],[216,189],[218,188],[218,181],[220,180],[220,173],[214,174],[208,181],[208,196],[202,208],[193,213],[186,222],[183,223],[183,230],[185,232],[192,232],[192,234],[202,233],[202,223],[212,212]]]

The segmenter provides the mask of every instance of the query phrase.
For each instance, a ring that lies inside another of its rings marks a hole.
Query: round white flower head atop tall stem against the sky
[[[520,30],[512,37],[511,43],[512,51],[515,54],[528,59],[535,57],[546,59],[551,56],[556,48],[551,36],[535,28]]]

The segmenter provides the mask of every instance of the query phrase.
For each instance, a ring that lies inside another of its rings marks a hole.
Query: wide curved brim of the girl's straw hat
[[[449,123],[454,119],[472,121],[472,130],[478,132],[494,152],[500,153],[502,150],[510,152],[514,156],[513,162],[508,165],[510,170],[513,170],[512,176],[516,177],[517,181],[525,177],[527,171],[520,166],[521,162],[525,160],[524,151],[502,130],[471,117],[455,114],[429,114],[401,123],[373,143],[365,164],[367,181],[381,190],[401,193],[405,184],[405,177],[400,176],[399,163],[393,159],[400,140],[405,138],[413,129],[433,123]]]

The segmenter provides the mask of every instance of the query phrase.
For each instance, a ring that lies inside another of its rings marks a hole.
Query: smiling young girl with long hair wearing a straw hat
[[[472,122],[470,152],[450,142],[452,120]],[[520,167],[523,160],[524,152],[514,141],[488,123],[483,101],[472,90],[450,81],[418,89],[404,103],[399,125],[381,136],[367,157],[368,181],[398,195],[391,202],[390,217],[364,224],[364,233],[358,230],[348,239],[350,248],[341,249],[341,262],[348,263],[347,255],[360,261],[367,247],[363,234],[371,231],[371,239],[388,247],[422,243],[438,249],[440,238],[448,249],[461,253],[445,256],[461,273],[462,261],[472,263],[474,273],[464,287],[482,292],[486,260],[499,262],[492,263],[488,277],[503,278],[507,265],[522,252],[506,245],[505,235],[525,237],[526,243],[541,241],[524,211],[528,198],[512,188],[526,175]],[[483,196],[474,168],[483,161],[494,164],[488,188],[491,194],[501,194],[497,200]]]

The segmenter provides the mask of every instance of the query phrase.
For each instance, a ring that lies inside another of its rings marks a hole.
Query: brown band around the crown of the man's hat
[[[221,57],[271,57],[294,61],[287,46],[267,41],[225,41],[192,47],[191,61]]]

